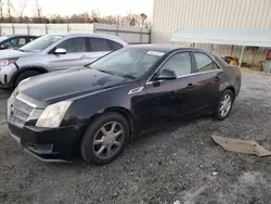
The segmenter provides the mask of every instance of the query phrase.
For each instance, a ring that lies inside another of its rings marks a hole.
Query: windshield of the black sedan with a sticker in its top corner
[[[95,61],[89,67],[124,78],[143,76],[165,53],[140,47],[127,47]]]

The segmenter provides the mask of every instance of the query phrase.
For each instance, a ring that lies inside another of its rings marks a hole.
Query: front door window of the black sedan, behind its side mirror
[[[169,58],[163,65],[163,69],[173,71],[177,76],[192,73],[191,56],[189,52],[181,52]]]

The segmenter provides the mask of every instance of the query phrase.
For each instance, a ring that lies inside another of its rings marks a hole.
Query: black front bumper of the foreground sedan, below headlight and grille
[[[10,135],[33,156],[44,162],[63,162],[75,158],[83,126],[20,128],[9,123],[9,129]]]

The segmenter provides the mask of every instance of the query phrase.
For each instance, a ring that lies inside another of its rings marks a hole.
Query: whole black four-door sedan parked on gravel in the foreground
[[[131,46],[86,67],[23,80],[8,100],[11,136],[42,161],[78,153],[103,165],[127,143],[176,117],[229,116],[241,73],[193,48]]]

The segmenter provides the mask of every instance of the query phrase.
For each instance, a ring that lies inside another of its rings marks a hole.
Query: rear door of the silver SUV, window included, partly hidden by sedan
[[[94,61],[113,51],[109,40],[105,38],[88,38],[88,44],[91,61]]]

